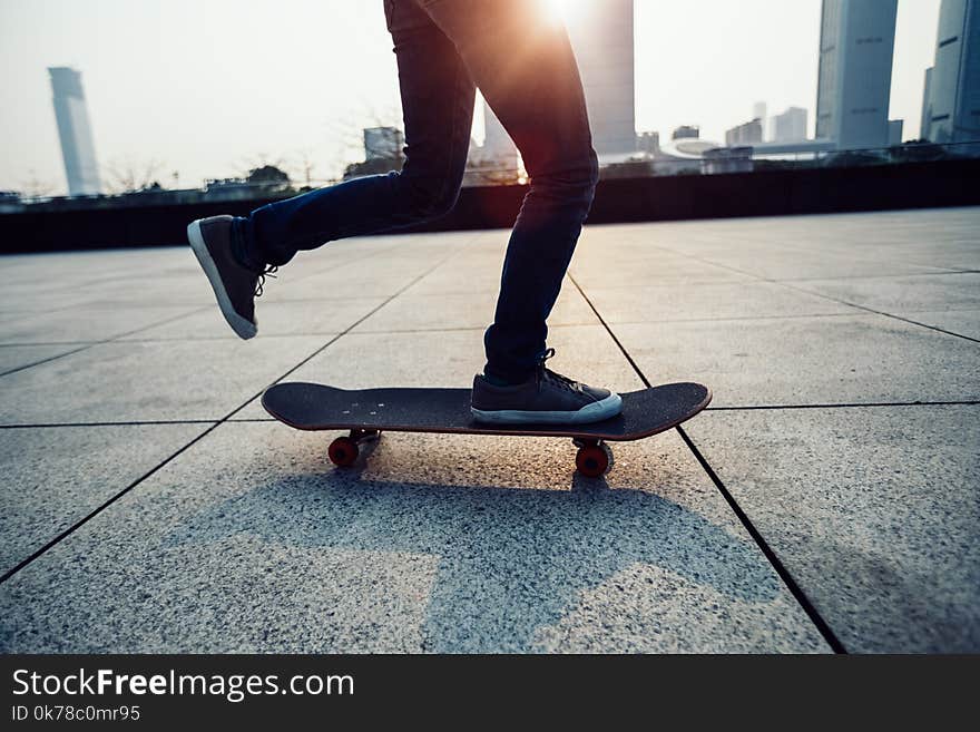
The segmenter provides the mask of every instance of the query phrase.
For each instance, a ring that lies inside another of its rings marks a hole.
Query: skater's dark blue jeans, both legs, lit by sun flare
[[[479,87],[530,177],[483,339],[484,372],[511,382],[533,373],[598,180],[578,66],[546,7],[545,0],[384,0],[404,116],[402,170],[258,208],[237,224],[246,262],[285,264],[301,250],[452,209]]]

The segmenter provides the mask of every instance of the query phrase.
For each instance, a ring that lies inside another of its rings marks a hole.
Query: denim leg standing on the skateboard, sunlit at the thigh
[[[546,348],[546,321],[598,180],[578,65],[540,0],[415,1],[455,43],[531,178],[484,336],[486,372],[520,381]]]

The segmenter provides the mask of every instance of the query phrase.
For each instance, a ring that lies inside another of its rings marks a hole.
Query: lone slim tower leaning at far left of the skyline
[[[65,177],[68,178],[68,195],[98,194],[102,184],[99,179],[85,91],[81,88],[81,74],[66,67],[49,68],[48,74],[51,77],[55,118],[61,140]]]

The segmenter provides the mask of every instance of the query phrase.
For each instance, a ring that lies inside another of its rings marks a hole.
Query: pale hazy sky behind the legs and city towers
[[[939,6],[899,0],[890,117],[905,139],[918,137]],[[805,107],[812,134],[820,8],[636,0],[637,130],[695,124],[724,140],[766,101],[770,114]],[[325,180],[363,159],[361,128],[401,124],[382,0],[0,0],[0,189],[67,189],[49,66],[82,72],[110,185],[151,169],[197,187],[264,163]]]

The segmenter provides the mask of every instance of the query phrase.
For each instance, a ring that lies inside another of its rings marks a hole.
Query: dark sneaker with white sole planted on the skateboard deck
[[[555,349],[548,349],[535,375],[523,383],[497,387],[486,377],[474,377],[473,419],[491,424],[586,424],[620,412],[619,394],[546,369],[545,361],[552,355]]]

